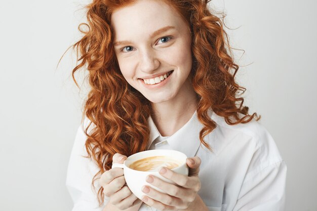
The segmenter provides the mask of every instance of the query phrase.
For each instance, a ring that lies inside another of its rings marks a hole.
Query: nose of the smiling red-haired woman
[[[140,54],[139,68],[142,72],[152,73],[160,66],[154,50],[144,50]]]

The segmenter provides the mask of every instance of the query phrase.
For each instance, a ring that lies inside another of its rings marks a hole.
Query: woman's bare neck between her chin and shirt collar
[[[197,94],[191,85],[184,86],[173,99],[152,103],[151,115],[162,136],[171,136],[191,118],[198,103]]]

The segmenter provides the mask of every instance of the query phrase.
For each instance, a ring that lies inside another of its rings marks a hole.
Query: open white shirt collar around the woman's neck
[[[157,130],[151,116],[148,118],[148,125],[150,129],[149,147],[151,143],[161,134]],[[202,128],[203,125],[198,120],[197,113],[195,111],[189,121],[186,122],[186,124],[184,124],[181,129],[170,136],[167,139],[167,142],[173,150],[183,152],[187,157],[193,157],[201,145],[199,133]]]

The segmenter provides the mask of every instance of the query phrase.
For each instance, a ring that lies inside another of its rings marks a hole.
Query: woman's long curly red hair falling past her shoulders
[[[248,114],[248,107],[243,105],[244,98],[239,97],[246,89],[234,80],[239,66],[227,53],[230,51],[228,37],[221,18],[208,9],[210,0],[163,1],[173,7],[190,28],[192,70],[188,77],[199,96],[197,117],[204,125],[199,138],[211,150],[204,141],[204,137],[216,128],[216,122],[208,115],[209,109],[224,117],[228,124],[246,123],[260,117],[256,113]],[[122,75],[110,26],[111,13],[134,2],[136,0],[93,0],[86,6],[88,24],[78,26],[84,36],[72,46],[80,61],[72,71],[75,83],[74,73],[78,69],[84,67],[89,71],[91,90],[83,118],[86,116],[90,120],[85,129],[86,149],[100,169],[92,181],[93,187],[94,181],[111,168],[113,154],[129,156],[144,151],[149,141],[150,102]],[[82,30],[82,26],[87,26],[88,30]],[[91,129],[89,133],[88,129]],[[101,187],[98,191],[100,206],[103,198]]]

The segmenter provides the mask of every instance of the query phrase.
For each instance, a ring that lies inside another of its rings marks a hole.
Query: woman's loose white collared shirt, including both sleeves
[[[199,133],[203,125],[194,112],[190,120],[175,134],[158,141],[160,133],[151,117],[149,149],[173,149],[187,157],[198,156],[202,163],[198,192],[212,211],[278,211],[284,210],[286,164],[274,140],[257,121],[228,125],[223,117],[211,112],[216,129],[205,137],[213,152],[201,145]],[[101,211],[91,189],[96,164],[81,155],[86,135],[78,128],[68,165],[66,186],[74,201],[72,211]],[[96,184],[99,188],[99,185]],[[105,200],[105,203],[107,201]],[[156,209],[142,204],[139,211]]]

